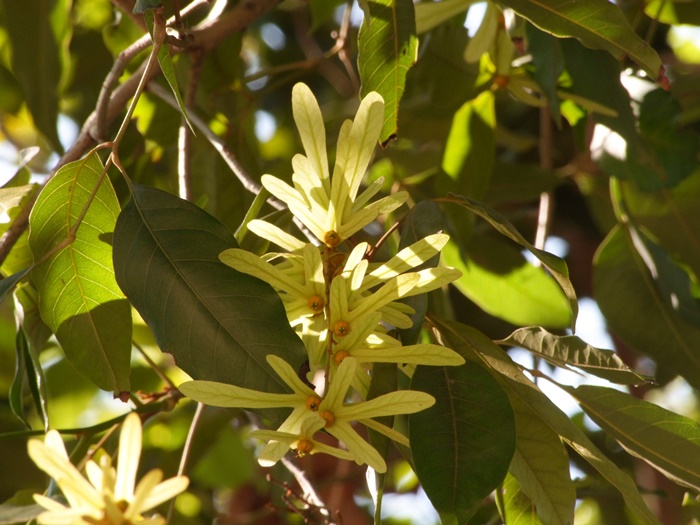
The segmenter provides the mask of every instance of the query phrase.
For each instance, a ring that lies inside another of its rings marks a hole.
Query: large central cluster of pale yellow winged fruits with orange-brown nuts
[[[292,160],[293,186],[271,175],[264,175],[262,183],[287,204],[317,242],[304,242],[256,219],[248,229],[285,251],[258,257],[230,249],[221,253],[220,259],[277,290],[290,324],[304,341],[310,372],[307,378],[300,378],[289,363],[269,355],[267,362],[290,393],[260,392],[211,381],[189,381],[180,389],[186,396],[210,405],[291,408],[277,430],[251,433],[267,441],[259,455],[262,465],[276,463],[291,448],[298,454],[323,452],[351,459],[384,472],[384,459],[357,432],[356,423],[408,446],[402,433],[375,418],[418,412],[435,400],[413,390],[367,399],[373,363],[397,363],[408,374],[419,364],[464,363],[461,356],[443,346],[402,346],[390,335],[393,328],[410,328],[413,324],[409,317],[413,310],[398,299],[440,288],[457,279],[460,272],[445,267],[415,270],[447,243],[448,236],[443,233],[425,237],[383,263],[368,260],[370,247],[366,242],[348,242],[408,198],[405,192],[396,192],[372,200],[382,180],[359,193],[384,119],[380,95],[369,93],[355,120],[343,123],[332,173],[321,110],[306,85],[294,87],[292,106],[305,151],[305,155],[297,154]],[[324,431],[337,438],[337,446],[317,439]]]

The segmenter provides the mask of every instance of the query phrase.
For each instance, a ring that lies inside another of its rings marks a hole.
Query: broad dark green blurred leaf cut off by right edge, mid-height
[[[667,306],[621,227],[614,228],[596,252],[593,287],[610,330],[659,366],[700,386],[700,328]]]

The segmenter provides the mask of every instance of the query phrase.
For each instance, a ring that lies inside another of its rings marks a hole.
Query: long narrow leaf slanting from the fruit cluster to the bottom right
[[[610,461],[499,346],[474,328],[453,321],[433,320],[445,342],[468,359],[477,359],[496,372],[511,399],[528,405],[553,432],[591,464],[622,494],[628,508],[640,523],[660,525],[642,500],[637,487],[627,474]],[[516,402],[514,402],[515,405]]]

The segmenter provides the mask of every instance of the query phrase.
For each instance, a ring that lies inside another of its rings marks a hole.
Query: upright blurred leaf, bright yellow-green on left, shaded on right
[[[455,113],[442,158],[442,169],[451,179],[447,191],[475,199],[484,196],[496,155],[495,133],[496,108],[491,91],[465,102]]]

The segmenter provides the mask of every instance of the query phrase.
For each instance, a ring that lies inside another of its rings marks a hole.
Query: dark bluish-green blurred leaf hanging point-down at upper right
[[[559,77],[564,72],[564,53],[559,45],[559,39],[532,24],[525,24],[525,35],[527,50],[532,54],[532,63],[535,66],[532,76],[547,97],[554,122],[559,123],[561,111],[557,85]]]

